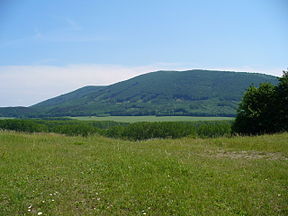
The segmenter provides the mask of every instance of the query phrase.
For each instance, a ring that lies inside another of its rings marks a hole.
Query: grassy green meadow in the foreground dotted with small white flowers
[[[287,140],[0,132],[0,215],[288,215]]]

